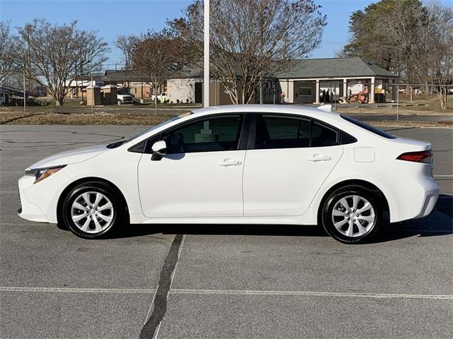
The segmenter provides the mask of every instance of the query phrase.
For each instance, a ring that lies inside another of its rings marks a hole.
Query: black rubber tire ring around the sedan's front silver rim
[[[80,194],[83,194],[84,192],[87,191],[94,191],[94,192],[99,192],[106,196],[110,202],[113,205],[113,220],[110,223],[109,227],[107,227],[105,230],[102,232],[92,234],[92,233],[87,233],[83,232],[82,230],[79,229],[74,224],[74,221],[71,218],[71,206],[72,203],[74,203],[74,200],[80,196]],[[82,237],[85,239],[96,239],[96,238],[102,238],[106,237],[107,234],[113,234],[113,231],[116,229],[117,223],[119,220],[122,219],[122,213],[120,213],[120,201],[118,200],[117,196],[115,195],[115,192],[110,189],[109,186],[103,184],[103,183],[96,183],[96,182],[88,182],[86,184],[81,184],[79,186],[76,186],[74,189],[72,189],[69,194],[67,194],[67,197],[64,199],[63,203],[63,221],[64,225],[66,225],[71,232],[76,234],[78,237]]]

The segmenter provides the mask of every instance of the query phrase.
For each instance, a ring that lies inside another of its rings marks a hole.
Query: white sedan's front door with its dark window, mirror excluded
[[[144,154],[139,162],[144,215],[242,217],[242,121],[242,114],[210,116],[162,133],[167,155],[151,160]]]

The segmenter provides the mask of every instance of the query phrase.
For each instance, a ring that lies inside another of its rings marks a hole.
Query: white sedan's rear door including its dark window
[[[255,117],[243,172],[244,216],[302,215],[343,154],[339,132],[300,116]]]

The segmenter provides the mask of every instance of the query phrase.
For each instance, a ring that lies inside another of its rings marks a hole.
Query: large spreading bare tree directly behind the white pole
[[[210,71],[231,102],[251,101],[263,78],[302,59],[319,46],[326,16],[313,0],[214,0],[210,6]],[[202,60],[203,1],[185,18],[169,22],[173,32]]]

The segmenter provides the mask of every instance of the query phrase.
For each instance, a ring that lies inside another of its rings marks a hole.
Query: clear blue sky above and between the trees
[[[105,69],[120,69],[124,61],[115,47],[118,35],[130,35],[160,30],[166,19],[183,15],[183,8],[191,0],[0,0],[0,20],[11,21],[12,27],[23,26],[34,18],[45,18],[50,23],[78,21],[84,30],[96,30],[104,38],[112,52]],[[328,25],[323,32],[321,47],[310,57],[335,57],[350,37],[348,21],[350,14],[363,9],[377,0],[316,0],[321,11],[327,15]],[[440,1],[453,6],[453,0]]]

